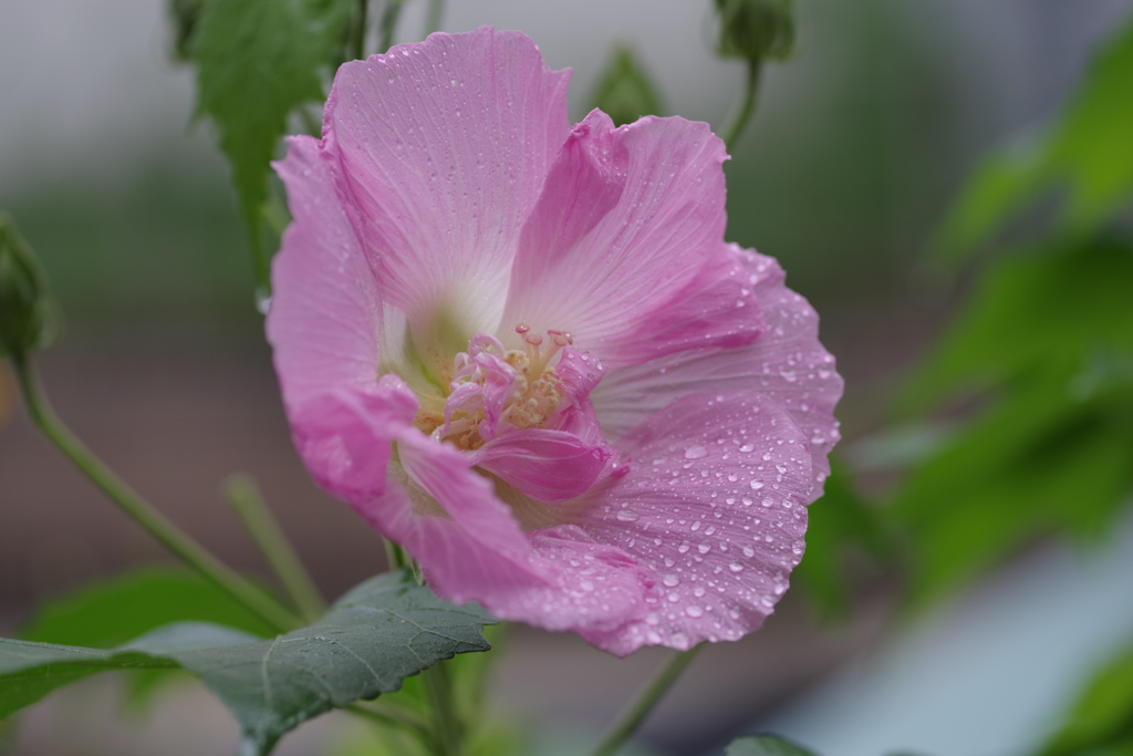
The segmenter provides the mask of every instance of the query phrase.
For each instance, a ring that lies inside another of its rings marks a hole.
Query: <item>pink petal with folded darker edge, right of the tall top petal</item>
[[[523,228],[501,338],[513,323],[570,331],[611,367],[755,338],[758,308],[722,243],[726,158],[707,124],[614,129],[591,112]]]

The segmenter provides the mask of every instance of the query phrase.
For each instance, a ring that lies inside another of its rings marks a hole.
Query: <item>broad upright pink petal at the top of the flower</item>
[[[570,71],[482,27],[344,63],[323,126],[343,199],[411,323],[443,307],[494,331],[520,228],[569,130]]]

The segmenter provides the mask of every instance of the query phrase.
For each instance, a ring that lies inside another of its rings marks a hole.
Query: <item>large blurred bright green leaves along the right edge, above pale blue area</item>
[[[1048,181],[1072,187],[1062,226],[979,272],[898,402],[906,417],[969,407],[887,498],[913,555],[914,602],[1038,536],[1097,538],[1133,494],[1133,239],[1110,226],[1133,188],[1133,25],[1050,134],[1026,159],[1041,169],[1008,181],[994,154],[944,227],[942,238],[971,246]]]

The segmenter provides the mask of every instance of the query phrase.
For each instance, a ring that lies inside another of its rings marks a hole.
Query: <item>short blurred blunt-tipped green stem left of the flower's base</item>
[[[325,614],[326,602],[310,579],[310,574],[299,561],[279,520],[264,503],[256,482],[247,475],[233,475],[224,483],[224,491],[232,509],[244,520],[245,527],[279,576],[303,619],[314,622]]]

